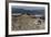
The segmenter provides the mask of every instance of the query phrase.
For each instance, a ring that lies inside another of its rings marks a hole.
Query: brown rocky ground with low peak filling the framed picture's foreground
[[[12,16],[12,30],[44,29],[44,22],[41,18],[33,18],[30,15]]]

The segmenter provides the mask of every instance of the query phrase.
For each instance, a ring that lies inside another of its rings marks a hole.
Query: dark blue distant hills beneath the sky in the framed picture
[[[28,13],[28,14],[42,14],[44,15],[44,10],[24,10],[24,9],[16,9],[12,8],[12,13]]]

